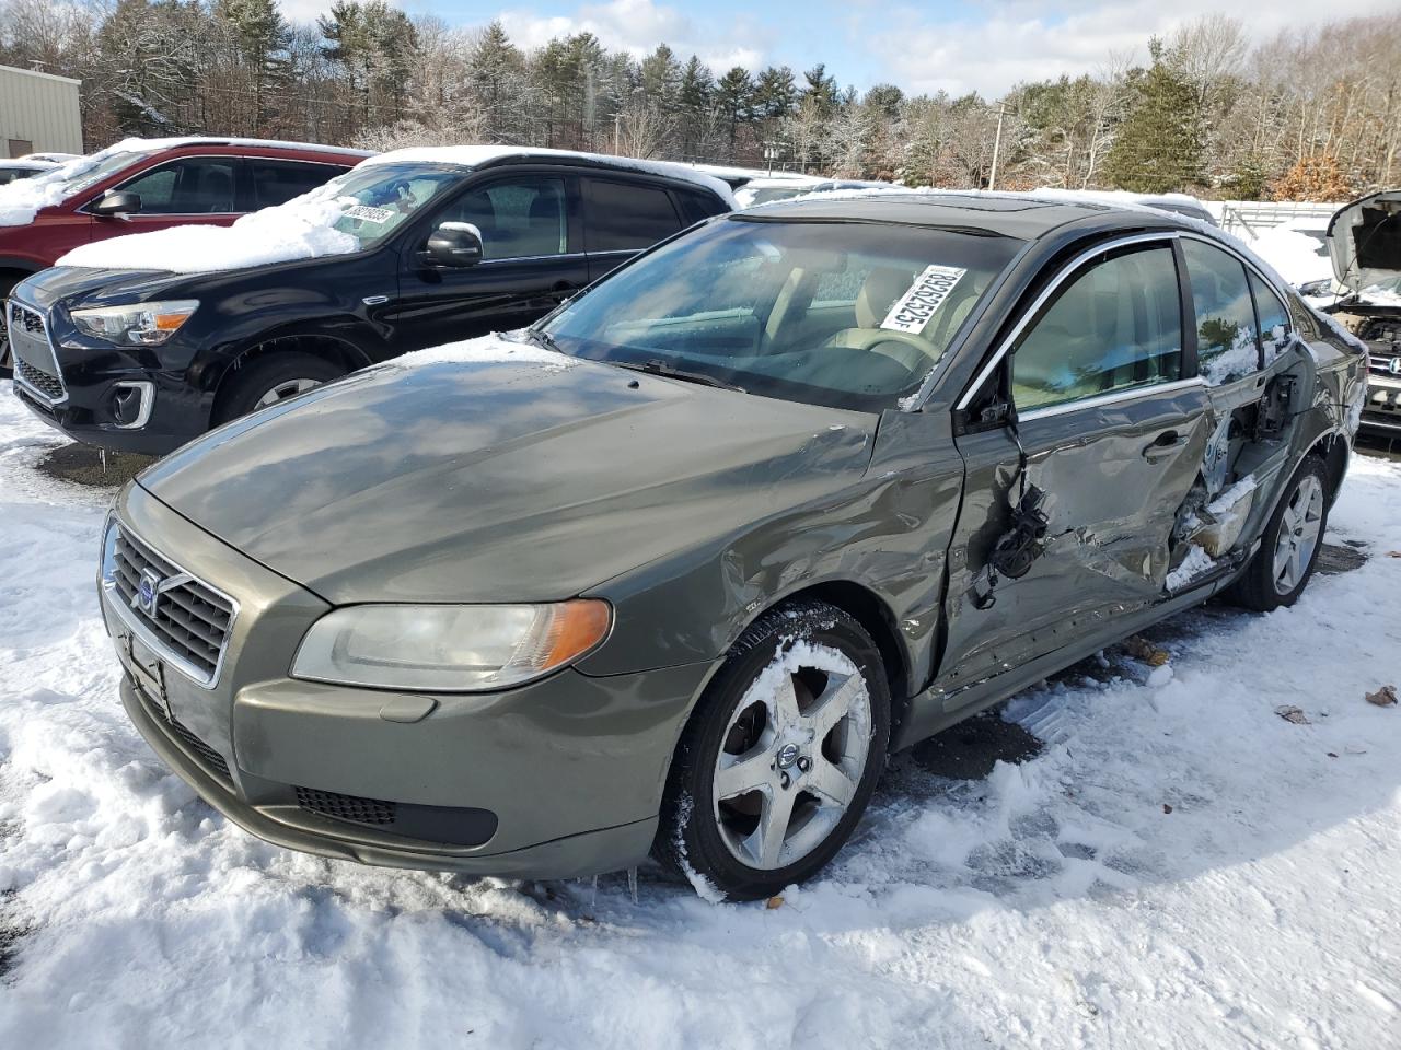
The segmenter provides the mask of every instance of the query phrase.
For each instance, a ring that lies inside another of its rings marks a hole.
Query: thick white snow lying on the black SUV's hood
[[[359,251],[360,239],[333,224],[353,200],[336,200],[333,186],[319,186],[286,204],[265,207],[233,225],[175,225],[80,245],[57,266],[212,273],[247,266],[318,259]]]

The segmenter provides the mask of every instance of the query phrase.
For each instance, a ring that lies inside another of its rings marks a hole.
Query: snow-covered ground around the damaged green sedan
[[[899,756],[766,909],[230,826],[122,715],[113,493],[38,473],[59,441],[0,384],[0,1047],[1401,1046],[1401,708],[1363,700],[1401,678],[1398,465],[1356,459],[1335,510],[1365,566],[1171,620],[1170,672],[1119,648],[1024,693],[1021,764],[937,776],[960,731]]]

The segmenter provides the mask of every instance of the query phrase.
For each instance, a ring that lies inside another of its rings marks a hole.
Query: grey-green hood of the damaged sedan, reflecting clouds
[[[870,462],[874,416],[468,346],[238,420],[137,483],[333,603],[510,602],[713,543]]]

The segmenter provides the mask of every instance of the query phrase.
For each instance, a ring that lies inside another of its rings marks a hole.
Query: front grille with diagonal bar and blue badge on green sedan
[[[157,581],[153,612],[137,601],[143,575]],[[184,573],[125,529],[118,529],[112,584],[122,601],[168,654],[196,679],[212,683],[228,644],[234,606],[224,595]]]

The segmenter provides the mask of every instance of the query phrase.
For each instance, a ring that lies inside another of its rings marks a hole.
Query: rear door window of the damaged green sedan
[[[1212,386],[1259,368],[1259,332],[1245,265],[1202,241],[1182,238],[1196,312],[1196,361]]]

